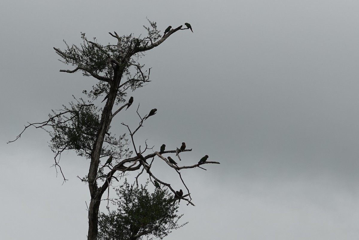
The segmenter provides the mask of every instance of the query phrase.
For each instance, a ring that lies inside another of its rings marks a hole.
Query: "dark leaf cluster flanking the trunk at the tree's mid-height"
[[[83,99],[76,103],[70,102],[70,107],[63,105],[62,113],[50,114],[52,131],[47,130],[51,136],[50,147],[53,152],[61,153],[73,149],[79,156],[90,158],[95,138],[100,128],[99,110],[93,104],[86,104]],[[103,144],[102,156],[128,157],[131,152],[127,147],[126,134],[106,134]]]

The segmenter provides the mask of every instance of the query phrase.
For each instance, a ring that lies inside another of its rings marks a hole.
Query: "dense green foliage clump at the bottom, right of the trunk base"
[[[153,193],[145,185],[129,184],[127,180],[116,189],[117,210],[99,213],[99,240],[162,239],[171,230],[187,224],[178,224],[178,203],[167,190],[155,189]]]

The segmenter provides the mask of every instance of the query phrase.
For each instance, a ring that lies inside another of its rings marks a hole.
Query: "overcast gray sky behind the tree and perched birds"
[[[76,176],[88,161],[64,154],[61,185],[45,131],[6,142],[95,83],[60,73],[68,67],[52,47],[80,43],[80,32],[104,44],[116,43],[108,32],[138,36],[146,17],[162,32],[188,22],[194,33],[177,32],[143,57],[152,82],[129,94],[143,115],[158,113],[135,141],[186,142],[186,165],[205,154],[221,162],[182,171],[196,207],[181,204],[189,224],[166,239],[356,239],[358,8],[349,0],[1,3],[1,239],[86,239],[90,196]],[[136,126],[134,106],[113,132]]]

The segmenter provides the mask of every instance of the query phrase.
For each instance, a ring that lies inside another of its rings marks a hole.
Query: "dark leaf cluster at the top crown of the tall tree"
[[[149,20],[148,20],[149,21]],[[145,27],[148,32],[144,38],[134,37],[132,34],[123,35],[117,45],[108,43],[101,45],[97,43],[96,38],[89,41],[85,33],[81,33],[83,42],[80,46],[66,44],[64,51],[57,52],[61,56],[61,62],[72,65],[82,71],[84,76],[93,76],[99,81],[92,86],[91,90],[83,90],[90,99],[94,100],[99,96],[106,96],[109,92],[111,82],[114,78],[115,69],[118,67],[123,72],[121,85],[116,94],[116,104],[126,102],[126,91],[142,87],[148,78],[147,71],[142,71],[144,65],[140,65],[138,60],[143,56],[142,50],[148,44],[157,41],[160,38],[159,30],[155,22],[151,22],[150,27]],[[132,54],[132,52],[136,52]],[[123,59],[123,56],[130,55],[129,59]],[[77,70],[77,71],[78,71]]]

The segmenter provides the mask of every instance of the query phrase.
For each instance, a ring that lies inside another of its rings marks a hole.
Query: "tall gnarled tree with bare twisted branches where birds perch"
[[[176,196],[176,190],[171,187],[171,184],[165,183],[154,176],[150,170],[151,163],[155,156],[160,157],[165,161],[169,167],[177,171],[183,185],[187,190],[187,194],[178,197],[186,200],[188,204],[192,203],[190,191],[181,177],[180,170],[199,167],[205,163],[219,163],[219,162],[204,162],[197,163],[192,166],[176,166],[169,163],[167,158],[163,157],[166,153],[178,153],[178,149],[164,151],[162,154],[155,151],[145,155],[146,150],[151,149],[145,142],[145,149],[137,148],[133,136],[139,130],[148,115],[141,116],[137,114],[140,123],[135,130],[131,130],[127,126],[129,136],[126,134],[116,137],[109,130],[111,121],[123,108],[129,107],[131,103],[126,103],[127,90],[135,91],[139,87],[143,87],[145,83],[150,82],[150,69],[144,71],[144,65],[139,63],[139,58],[144,55],[144,52],[159,46],[172,34],[179,30],[185,30],[182,25],[171,29],[163,37],[159,34],[155,22],[150,22],[150,27],[144,28],[147,30],[147,36],[144,38],[135,38],[132,34],[127,36],[119,36],[116,32],[109,33],[116,38],[117,44],[101,45],[97,43],[96,38],[89,41],[85,37],[85,33],[81,33],[83,43],[80,46],[66,44],[66,50],[53,48],[60,56],[60,61],[74,68],[70,70],[60,70],[66,73],[75,73],[81,71],[84,76],[92,76],[98,80],[98,83],[92,86],[90,91],[84,90],[83,93],[87,95],[89,100],[84,101],[82,98],[76,99],[75,102],[70,102],[70,106],[63,105],[63,109],[52,110],[49,118],[41,123],[32,123],[25,126],[22,133],[30,126],[35,128],[45,129],[51,136],[50,147],[55,153],[53,166],[56,172],[60,172],[64,182],[65,175],[59,165],[61,153],[65,150],[75,150],[79,156],[86,157],[90,160],[88,175],[80,178],[82,181],[88,183],[90,190],[90,204],[88,206],[88,240],[97,239],[98,231],[98,211],[102,196],[108,190],[108,186],[113,179],[117,180],[118,176],[126,172],[141,170],[137,175],[136,180],[142,173],[146,173],[151,179],[157,180],[158,183],[167,186]],[[93,103],[98,97],[106,96],[104,100],[106,104],[103,109],[95,106]],[[133,101],[133,99],[132,99]],[[120,105],[118,109],[114,110],[116,106]],[[150,114],[149,114],[150,115]],[[52,128],[52,130],[48,130]],[[21,137],[20,133],[18,137]],[[15,141],[14,140],[14,141]],[[14,142],[10,141],[10,142]],[[130,151],[129,146],[132,143],[133,151]],[[191,151],[186,149],[181,152]],[[132,156],[134,154],[134,157]],[[140,155],[144,154],[143,159]],[[116,163],[108,164],[106,167],[101,166],[101,158],[112,156]],[[178,158],[179,158],[178,154]],[[149,159],[152,161],[149,163]],[[148,160],[148,161],[146,161]],[[107,171],[107,172],[106,172]],[[107,198],[109,196],[107,195]]]

